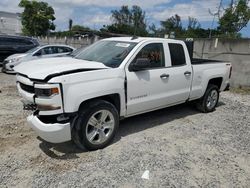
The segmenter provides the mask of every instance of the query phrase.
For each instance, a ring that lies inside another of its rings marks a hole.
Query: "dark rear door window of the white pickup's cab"
[[[169,51],[172,66],[181,66],[186,64],[186,58],[183,46],[181,44],[169,43]]]

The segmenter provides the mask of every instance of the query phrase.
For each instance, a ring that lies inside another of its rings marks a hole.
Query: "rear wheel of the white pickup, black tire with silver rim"
[[[196,103],[198,110],[204,113],[212,112],[215,110],[219,101],[218,86],[209,84],[204,96]]]

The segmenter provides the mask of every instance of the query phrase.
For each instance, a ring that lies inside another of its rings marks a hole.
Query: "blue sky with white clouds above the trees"
[[[68,28],[68,20],[73,24],[99,29],[111,23],[111,10],[119,9],[122,5],[139,5],[146,11],[148,24],[159,26],[160,20],[166,20],[174,14],[181,16],[183,25],[187,23],[188,16],[195,17],[203,28],[210,28],[213,16],[209,14],[218,10],[220,0],[44,0],[51,5],[56,13],[56,30]],[[0,0],[0,11],[22,12],[18,8],[20,0]],[[230,0],[223,0],[226,8]],[[249,3],[250,6],[250,3]],[[214,27],[216,27],[217,20]],[[250,24],[241,32],[244,37],[250,38]]]

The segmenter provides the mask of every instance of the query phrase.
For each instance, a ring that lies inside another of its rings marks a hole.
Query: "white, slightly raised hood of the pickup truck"
[[[100,62],[72,57],[45,58],[23,62],[14,70],[31,79],[45,80],[63,74],[109,68]]]

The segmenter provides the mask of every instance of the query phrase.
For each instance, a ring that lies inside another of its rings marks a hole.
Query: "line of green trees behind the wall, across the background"
[[[68,30],[54,32],[54,9],[46,2],[21,0],[19,6],[24,8],[21,14],[23,34],[31,36],[76,36],[83,34],[114,33],[124,35],[169,37],[176,38],[208,38],[216,37],[241,37],[240,31],[247,26],[250,20],[249,0],[231,0],[230,5],[218,16],[218,26],[214,29],[204,29],[197,18],[189,17],[187,26],[183,26],[182,18],[176,14],[160,21],[160,26],[149,25],[146,12],[141,7],[134,5],[131,8],[121,6],[119,10],[111,11],[111,24],[103,25],[96,31],[83,25],[74,25],[73,20],[68,20]]]

